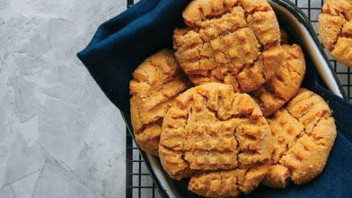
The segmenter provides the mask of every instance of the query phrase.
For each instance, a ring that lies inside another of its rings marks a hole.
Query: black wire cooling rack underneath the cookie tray
[[[325,0],[290,0],[302,9],[311,21],[315,32],[318,32],[318,15],[321,14],[321,6]],[[134,4],[134,0],[127,0],[128,7]],[[328,56],[329,53],[327,53]],[[330,58],[331,66],[352,101],[351,71],[349,67],[340,65],[334,58]],[[127,131],[126,148],[126,197],[160,197],[151,176],[149,175],[143,158],[139,155],[136,144]]]

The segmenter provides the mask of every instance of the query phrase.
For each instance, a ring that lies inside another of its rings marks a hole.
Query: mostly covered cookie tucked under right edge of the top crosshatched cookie
[[[277,112],[297,92],[305,73],[304,53],[298,45],[283,45],[284,59],[276,76],[252,93],[264,116]]]

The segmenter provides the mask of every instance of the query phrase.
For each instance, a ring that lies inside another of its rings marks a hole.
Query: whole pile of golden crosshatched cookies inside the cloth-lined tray
[[[300,88],[304,53],[287,44],[267,0],[194,0],[183,19],[174,50],[160,50],[133,73],[138,146],[207,197],[319,175],[335,122],[321,96]]]

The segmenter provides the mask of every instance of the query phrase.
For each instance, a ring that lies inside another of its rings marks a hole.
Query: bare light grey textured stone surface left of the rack
[[[124,197],[125,126],[75,53],[125,0],[0,0],[0,197]]]

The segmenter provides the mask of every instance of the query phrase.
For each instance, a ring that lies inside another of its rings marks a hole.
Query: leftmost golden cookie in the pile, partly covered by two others
[[[136,143],[157,156],[163,117],[174,98],[188,88],[188,80],[167,49],[146,58],[132,75],[130,110]]]

